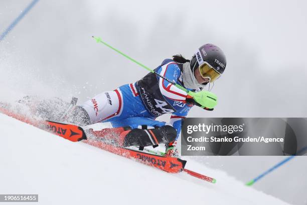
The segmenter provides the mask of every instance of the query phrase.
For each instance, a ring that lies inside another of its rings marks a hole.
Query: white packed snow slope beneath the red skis
[[[0,131],[0,193],[39,194],[34,204],[287,204],[191,160],[187,168],[217,183],[73,143],[3,114]]]

